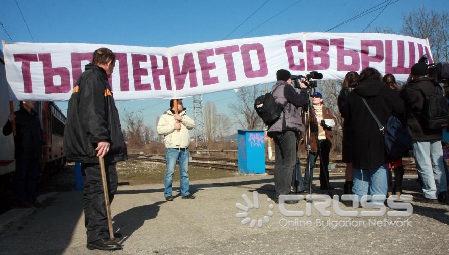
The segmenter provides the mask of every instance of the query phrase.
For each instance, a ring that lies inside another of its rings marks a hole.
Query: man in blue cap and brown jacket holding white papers
[[[329,111],[329,109],[323,106],[322,95],[319,92],[315,92],[312,95],[312,109],[308,114],[308,119],[303,116],[303,123],[308,121],[310,123],[310,154],[307,159],[306,171],[304,172],[304,186],[309,189],[309,181],[313,180],[313,167],[315,166],[316,159],[320,156],[320,172],[319,183],[322,190],[334,189],[328,186],[329,182],[329,153],[331,152],[332,143],[334,141],[334,135],[332,134],[332,127],[335,126],[337,121],[335,116]],[[326,123],[326,124],[325,124]],[[332,124],[331,124],[332,123]],[[305,149],[306,142],[303,139],[301,147]],[[310,163],[310,165],[309,165]],[[309,180],[309,171],[310,179]],[[326,176],[325,176],[326,174]]]

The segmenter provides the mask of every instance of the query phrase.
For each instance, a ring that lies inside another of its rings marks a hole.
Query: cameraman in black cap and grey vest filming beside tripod
[[[301,91],[297,93],[291,85],[290,72],[280,69],[276,72],[276,84],[272,88],[276,103],[284,106],[279,119],[268,126],[268,136],[275,142],[275,202],[278,203],[279,195],[290,193],[293,179],[293,171],[296,165],[297,139],[300,132],[304,131],[301,123],[301,112],[298,107],[307,104],[309,95],[307,86],[300,83]],[[285,201],[285,203],[297,203],[298,201]]]

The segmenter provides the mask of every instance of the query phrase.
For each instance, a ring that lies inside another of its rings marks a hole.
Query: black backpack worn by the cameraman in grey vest
[[[278,87],[272,92],[275,92]],[[274,124],[281,117],[281,113],[284,110],[283,105],[276,103],[272,92],[261,95],[254,101],[254,109],[257,115],[262,118],[263,123],[267,126]]]

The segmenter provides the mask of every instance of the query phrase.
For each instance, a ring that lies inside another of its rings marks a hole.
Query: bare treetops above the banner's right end
[[[449,11],[427,11],[424,6],[403,15],[401,33],[418,38],[429,38],[435,62],[448,61]]]

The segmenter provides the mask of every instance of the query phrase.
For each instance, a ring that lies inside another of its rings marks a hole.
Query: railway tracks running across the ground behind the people
[[[144,154],[128,154],[130,159],[134,160],[142,160],[142,161],[151,161],[151,162],[159,162],[165,163],[165,159],[156,159],[149,158],[155,155],[144,155]],[[163,157],[163,156],[161,156]],[[192,157],[193,161],[189,162],[191,166],[201,166],[201,167],[210,167],[217,170],[227,170],[227,171],[238,171],[238,160],[237,159],[223,159],[223,158],[206,158],[206,157]],[[226,162],[226,163],[211,163],[211,162],[197,162],[197,161],[217,161],[217,162]],[[275,163],[271,161],[266,161],[266,172],[268,174],[273,174]],[[316,166],[319,166],[320,162],[317,160]],[[335,168],[345,168],[346,164],[341,160],[329,160],[329,164],[335,165]],[[300,159],[300,165],[302,167],[306,166],[306,158]],[[410,162],[403,162],[404,169],[406,173],[416,173],[416,164]],[[304,170],[303,170],[304,171]]]

